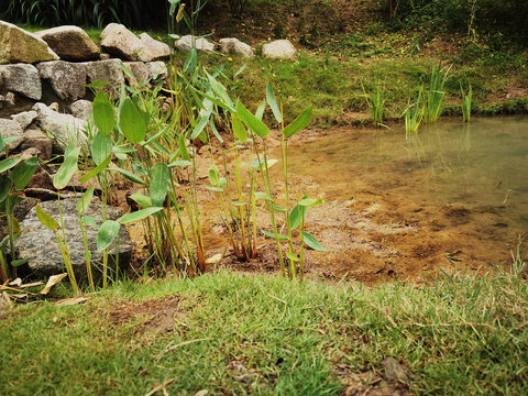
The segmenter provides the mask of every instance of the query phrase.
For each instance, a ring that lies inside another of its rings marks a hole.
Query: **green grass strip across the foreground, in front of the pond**
[[[179,298],[172,332],[145,331],[145,312],[117,316],[169,296]],[[222,272],[124,282],[89,298],[0,319],[0,394],[144,395],[174,378],[172,395],[339,395],[338,364],[381,373],[387,356],[415,394],[528,392],[528,285],[518,275],[370,288]]]

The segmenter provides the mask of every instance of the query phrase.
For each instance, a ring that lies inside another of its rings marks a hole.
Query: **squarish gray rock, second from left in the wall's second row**
[[[41,78],[48,81],[61,99],[77,100],[86,95],[86,66],[64,61],[36,65]]]

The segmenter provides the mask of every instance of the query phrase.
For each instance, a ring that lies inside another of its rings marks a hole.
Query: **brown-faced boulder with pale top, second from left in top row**
[[[78,26],[57,26],[36,33],[63,61],[97,61],[101,51]]]

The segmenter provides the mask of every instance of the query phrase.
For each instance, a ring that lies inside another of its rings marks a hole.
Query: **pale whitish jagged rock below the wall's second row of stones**
[[[58,146],[65,147],[72,141],[77,143],[86,141],[86,121],[70,114],[62,114],[44,103],[36,103],[33,110],[38,114],[36,121]]]

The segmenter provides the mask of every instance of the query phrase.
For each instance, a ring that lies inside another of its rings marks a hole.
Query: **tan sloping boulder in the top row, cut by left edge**
[[[0,21],[0,64],[58,61],[44,40],[12,23]]]

